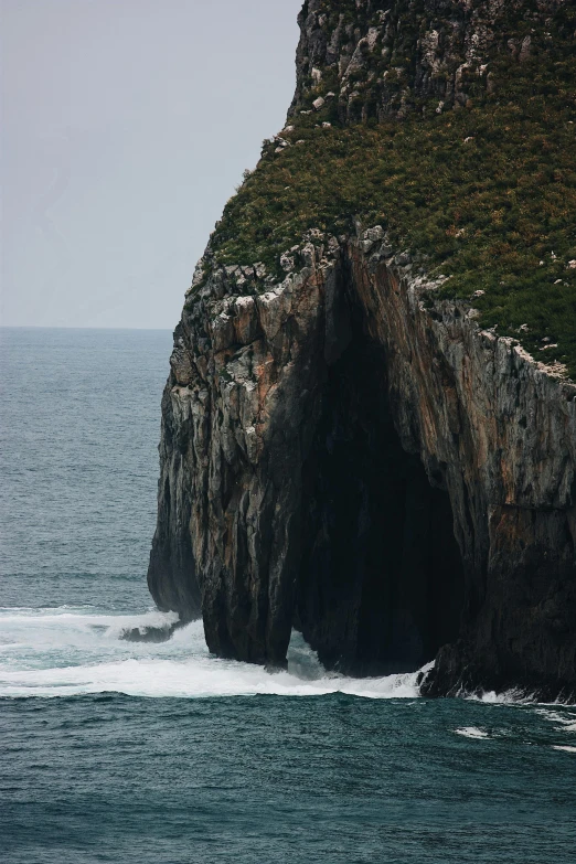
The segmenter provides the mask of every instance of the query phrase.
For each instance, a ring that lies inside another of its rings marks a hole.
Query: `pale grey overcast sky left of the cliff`
[[[284,127],[301,0],[0,2],[0,324],[172,329]]]

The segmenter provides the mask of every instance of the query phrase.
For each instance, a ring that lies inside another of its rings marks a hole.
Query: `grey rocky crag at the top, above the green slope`
[[[290,115],[341,122],[471,107],[498,87],[502,56],[553,49],[546,26],[566,0],[308,0],[300,12]],[[546,26],[544,26],[546,24]],[[561,22],[562,28],[562,22]],[[570,23],[565,22],[566,32]]]

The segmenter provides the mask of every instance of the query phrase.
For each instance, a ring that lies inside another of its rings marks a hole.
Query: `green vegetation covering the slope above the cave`
[[[557,43],[522,64],[502,56],[491,76],[491,94],[424,119],[322,128],[335,120],[330,100],[299,115],[291,146],[266,143],[227,203],[215,259],[279,271],[307,228],[380,224],[450,277],[444,296],[483,291],[473,299],[483,326],[576,376],[576,57]],[[557,349],[542,351],[544,339]]]

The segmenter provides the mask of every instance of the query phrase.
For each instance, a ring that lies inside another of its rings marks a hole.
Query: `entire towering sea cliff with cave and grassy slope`
[[[288,125],[196,268],[162,399],[149,586],[160,608],[202,615],[214,653],[281,666],[296,627],[355,674],[436,660],[430,695],[575,697],[569,216],[531,242],[518,220],[460,224],[468,188],[418,179],[427,136],[426,158],[470,160],[474,189],[478,172],[498,180],[490,136],[459,156],[488,117],[518,136],[519,173],[525,130],[564,117],[570,14],[553,0],[305,3]],[[547,158],[569,198],[561,143]],[[319,180],[299,188],[302,159]],[[497,186],[482,206],[498,214]]]

